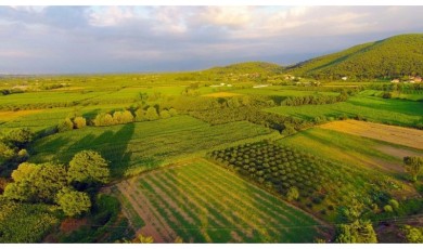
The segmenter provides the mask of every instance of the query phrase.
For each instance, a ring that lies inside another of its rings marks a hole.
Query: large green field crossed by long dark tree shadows
[[[166,165],[226,143],[270,134],[247,121],[209,126],[189,116],[113,127],[86,127],[47,136],[33,147],[31,161],[67,163],[84,149],[99,150],[115,176]]]

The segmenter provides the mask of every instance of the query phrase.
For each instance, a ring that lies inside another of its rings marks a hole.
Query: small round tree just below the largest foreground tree
[[[78,217],[91,208],[91,200],[87,193],[67,187],[57,193],[56,202],[67,217]]]

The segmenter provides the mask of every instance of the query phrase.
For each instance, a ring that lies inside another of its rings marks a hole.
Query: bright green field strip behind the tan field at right
[[[423,103],[403,100],[384,100],[372,96],[355,96],[347,102],[328,105],[279,106],[267,112],[312,120],[316,117],[357,115],[370,121],[387,124],[414,126],[423,116]]]

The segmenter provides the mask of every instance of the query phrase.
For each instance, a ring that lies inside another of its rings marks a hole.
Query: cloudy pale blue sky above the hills
[[[423,31],[416,6],[0,6],[0,74],[295,64]]]

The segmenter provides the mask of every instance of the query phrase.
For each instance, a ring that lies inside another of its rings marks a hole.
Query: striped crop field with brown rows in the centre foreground
[[[312,243],[330,230],[309,214],[204,159],[118,183],[138,233],[171,243]],[[145,222],[145,225],[139,220]]]

